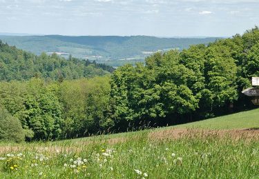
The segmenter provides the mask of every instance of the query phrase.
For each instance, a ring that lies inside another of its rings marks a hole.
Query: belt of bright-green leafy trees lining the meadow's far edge
[[[254,107],[241,92],[251,87],[252,76],[259,76],[259,29],[209,45],[157,52],[144,64],[124,65],[108,76],[6,82],[14,78],[7,79],[0,69],[1,113],[6,114],[0,120],[10,118],[10,125],[17,126],[17,140],[173,125]]]

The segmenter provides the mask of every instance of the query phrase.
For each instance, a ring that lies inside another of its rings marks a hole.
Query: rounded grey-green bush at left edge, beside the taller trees
[[[6,109],[0,106],[0,140],[20,143],[24,137],[19,119],[11,116]]]

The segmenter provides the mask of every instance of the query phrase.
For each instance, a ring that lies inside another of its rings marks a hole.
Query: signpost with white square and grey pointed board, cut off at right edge
[[[252,85],[259,86],[259,77],[252,77]],[[249,87],[242,91],[244,95],[253,96],[252,103],[254,105],[259,105],[259,88],[258,87]]]

